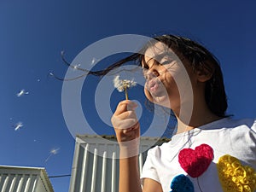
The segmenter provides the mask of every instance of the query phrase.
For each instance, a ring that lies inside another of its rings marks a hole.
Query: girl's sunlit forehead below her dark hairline
[[[148,61],[159,61],[164,57],[172,57],[172,59],[178,59],[177,55],[170,49],[166,44],[157,42],[156,44],[152,44],[146,49],[144,53],[144,62],[148,63]]]

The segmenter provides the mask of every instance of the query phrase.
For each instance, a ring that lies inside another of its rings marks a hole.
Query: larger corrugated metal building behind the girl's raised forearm
[[[168,141],[159,137],[141,137],[139,168],[149,148]],[[69,192],[118,192],[119,146],[111,136],[76,137]]]

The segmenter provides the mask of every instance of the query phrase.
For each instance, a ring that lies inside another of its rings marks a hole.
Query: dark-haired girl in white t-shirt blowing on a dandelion
[[[148,150],[140,176],[137,104],[119,102],[112,117],[120,149],[119,191],[255,191],[256,121],[226,115],[215,57],[189,38],[162,35],[107,71],[132,60],[143,67],[148,100],[172,109],[177,132],[170,142]]]

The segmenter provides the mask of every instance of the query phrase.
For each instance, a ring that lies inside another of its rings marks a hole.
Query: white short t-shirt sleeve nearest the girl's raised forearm
[[[151,178],[158,183],[160,183],[160,178],[158,176],[158,172],[156,170],[156,162],[158,159],[158,153],[157,153],[158,147],[154,147],[148,150],[147,159],[143,165],[143,172],[141,175],[141,181],[143,184],[144,178]]]

